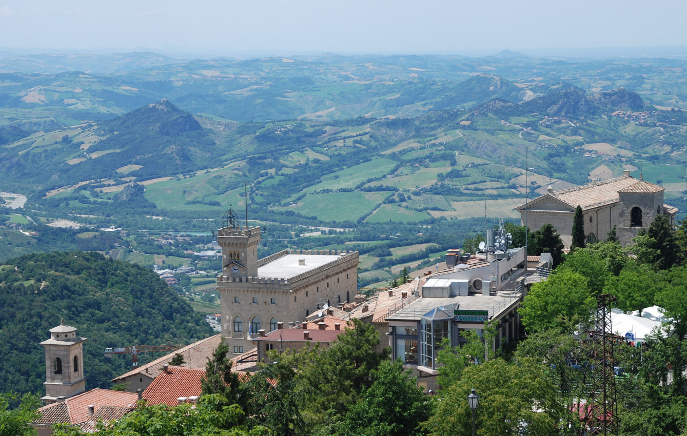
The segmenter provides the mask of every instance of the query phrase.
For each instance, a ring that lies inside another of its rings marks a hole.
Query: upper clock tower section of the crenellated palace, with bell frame
[[[222,274],[230,277],[258,275],[258,244],[260,226],[241,227],[234,211],[229,209],[223,227],[217,231],[217,243],[222,248]]]

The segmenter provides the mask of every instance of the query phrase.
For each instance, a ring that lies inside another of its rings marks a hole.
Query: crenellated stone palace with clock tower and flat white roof
[[[260,330],[297,325],[315,310],[355,298],[357,251],[284,250],[258,259],[260,227],[239,226],[233,216],[225,224],[217,231],[223,259],[217,290],[230,353],[253,347]]]

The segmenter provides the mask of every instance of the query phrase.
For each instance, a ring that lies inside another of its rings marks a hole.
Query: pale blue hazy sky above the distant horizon
[[[461,53],[687,45],[684,0],[0,0],[5,49]]]

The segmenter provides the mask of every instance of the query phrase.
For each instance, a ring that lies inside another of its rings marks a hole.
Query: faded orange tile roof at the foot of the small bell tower
[[[38,409],[41,419],[33,424],[52,425],[58,422],[81,424],[91,419],[88,406],[94,406],[95,411],[103,406],[131,408],[138,400],[138,394],[133,392],[111,391],[109,389],[91,389],[90,391],[74,395],[63,402],[48,404]]]

